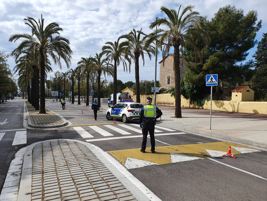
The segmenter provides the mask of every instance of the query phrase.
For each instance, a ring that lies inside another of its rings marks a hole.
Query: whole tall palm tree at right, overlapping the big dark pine
[[[163,50],[163,59],[169,53],[170,47],[174,48],[174,77],[175,77],[175,117],[182,118],[181,111],[181,86],[180,86],[180,46],[183,47],[184,41],[190,42],[194,50],[198,55],[200,52],[193,40],[191,40],[190,35],[196,33],[201,33],[202,36],[205,36],[205,32],[200,27],[200,16],[197,11],[193,11],[194,6],[188,5],[180,13],[181,6],[178,11],[174,9],[167,9],[162,6],[161,11],[167,15],[167,18],[158,18],[150,24],[150,28],[156,26],[163,26],[165,29],[157,29],[151,36],[156,36],[159,39],[159,45],[164,45]],[[200,55],[200,62],[201,55]]]

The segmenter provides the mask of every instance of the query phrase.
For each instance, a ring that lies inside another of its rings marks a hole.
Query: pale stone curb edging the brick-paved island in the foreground
[[[135,178],[122,164],[103,151],[100,147],[79,140],[54,139],[46,141],[57,140],[74,141],[87,146],[87,148],[96,155],[96,157],[111,171],[112,174],[114,174],[114,176],[127,188],[127,190],[130,191],[130,193],[132,193],[132,195],[138,201],[161,201],[153,192],[150,191],[149,188]],[[32,145],[29,145],[25,151],[17,196],[18,201],[31,201],[33,148],[35,145],[46,141],[33,143]]]

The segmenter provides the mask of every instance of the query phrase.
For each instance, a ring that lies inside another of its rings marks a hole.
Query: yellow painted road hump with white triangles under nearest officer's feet
[[[157,146],[155,147],[155,153],[150,152],[150,147],[146,148],[146,153],[140,152],[141,148],[108,151],[108,153],[114,156],[121,164],[125,164],[127,158],[149,161],[156,164],[168,164],[171,163],[170,153],[178,153],[206,159],[207,157],[210,157],[206,149],[227,153],[229,146],[249,148],[228,142],[216,142],[191,145]],[[231,151],[233,154],[240,154],[240,152],[234,148],[231,148]]]

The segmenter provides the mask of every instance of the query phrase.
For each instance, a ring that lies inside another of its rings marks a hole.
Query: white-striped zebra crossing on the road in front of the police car
[[[72,128],[76,130],[76,132],[80,134],[80,136],[87,142],[135,138],[143,136],[142,129],[138,124],[73,126]],[[155,136],[185,134],[184,132],[177,132],[177,130],[161,127],[158,125],[156,125],[155,128]]]

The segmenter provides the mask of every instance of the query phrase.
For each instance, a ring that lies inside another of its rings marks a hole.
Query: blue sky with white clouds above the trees
[[[71,68],[77,67],[81,57],[95,56],[100,53],[102,46],[107,41],[116,41],[123,34],[128,34],[133,28],[144,33],[150,33],[149,25],[156,17],[161,17],[161,6],[169,9],[178,9],[182,4],[195,5],[195,10],[208,19],[220,7],[227,4],[235,5],[244,10],[245,15],[250,10],[258,12],[258,20],[262,19],[262,28],[256,39],[261,40],[263,33],[267,32],[267,0],[0,0],[0,51],[10,54],[19,44],[10,43],[8,38],[17,33],[30,33],[24,18],[45,18],[45,24],[57,22],[64,29],[62,36],[70,41],[73,51]],[[247,60],[252,59],[256,47],[250,50]],[[161,55],[158,61],[161,60]],[[15,60],[8,59],[10,69],[13,69]],[[154,80],[155,58],[145,58],[145,66],[140,61],[140,80]],[[54,76],[56,71],[66,72],[66,64],[62,62],[62,70],[52,64],[53,72],[48,77]],[[145,72],[145,73],[144,73]],[[131,73],[123,72],[123,67],[118,67],[117,79],[123,82],[135,81],[134,65]],[[107,77],[112,81],[112,77]],[[159,80],[159,64],[157,65],[157,80]]]

